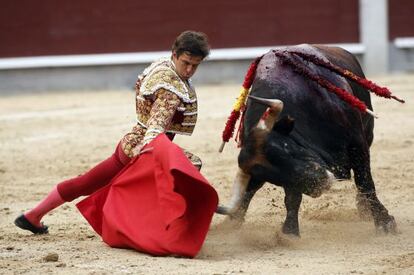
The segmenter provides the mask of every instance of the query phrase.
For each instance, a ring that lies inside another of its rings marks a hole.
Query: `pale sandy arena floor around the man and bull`
[[[62,92],[0,97],[1,274],[414,274],[414,75],[378,77],[406,99],[374,98],[380,116],[371,166],[380,200],[400,233],[377,234],[359,218],[352,181],[338,182],[318,199],[304,197],[300,239],[280,233],[280,188],[265,185],[246,222],[231,228],[215,216],[196,259],[152,257],[103,243],[75,202],[50,213],[50,234],[33,236],[13,220],[58,182],[109,156],[134,123],[132,91]],[[199,123],[176,142],[204,161],[202,173],[226,203],[237,148],[217,152],[239,86],[199,87]],[[50,259],[56,253],[57,261]],[[49,255],[49,261],[46,256]]]

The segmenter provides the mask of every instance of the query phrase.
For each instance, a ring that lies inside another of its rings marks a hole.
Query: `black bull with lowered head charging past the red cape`
[[[284,50],[318,56],[364,77],[356,58],[341,48],[300,45]],[[328,69],[302,63],[310,72],[355,95],[372,110],[367,90]],[[368,208],[377,229],[396,231],[395,220],[377,198],[371,176],[372,116],[361,113],[308,77],[293,71],[272,51],[260,60],[250,95],[278,99],[283,104],[275,101],[270,115],[262,119],[268,106],[258,100],[248,100],[238,158],[240,169],[232,201],[228,207],[220,206],[218,213],[243,221],[254,194],[269,182],[282,186],[285,191],[287,215],[282,231],[299,235],[298,211],[302,194],[317,197],[329,188],[334,177],[350,179],[352,170],[358,209],[362,209],[360,206]]]

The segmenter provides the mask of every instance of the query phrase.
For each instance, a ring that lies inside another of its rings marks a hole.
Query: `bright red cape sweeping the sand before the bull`
[[[77,207],[111,247],[194,257],[203,245],[218,195],[164,134],[145,146],[150,148]]]

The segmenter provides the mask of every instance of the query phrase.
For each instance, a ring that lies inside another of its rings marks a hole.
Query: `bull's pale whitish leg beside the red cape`
[[[232,219],[242,222],[250,201],[263,184],[264,181],[258,181],[239,169],[233,183],[233,194],[229,206],[219,206],[216,213],[229,215]]]

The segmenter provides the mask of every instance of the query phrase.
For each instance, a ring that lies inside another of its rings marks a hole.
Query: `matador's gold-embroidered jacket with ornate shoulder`
[[[189,81],[177,75],[170,59],[154,62],[138,76],[136,114],[137,125],[121,140],[122,149],[129,157],[134,156],[135,147],[141,148],[159,133],[191,135],[194,131],[196,93]]]

